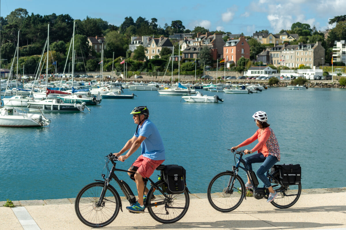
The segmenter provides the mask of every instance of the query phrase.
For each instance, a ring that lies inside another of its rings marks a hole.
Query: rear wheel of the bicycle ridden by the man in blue
[[[158,181],[156,185],[162,188],[164,183],[164,181]],[[190,205],[188,189],[186,188],[181,194],[167,194],[166,192],[165,194],[169,199],[165,198],[160,190],[151,187],[147,195],[148,204],[164,201],[165,205],[148,207],[148,212],[154,220],[160,223],[174,223],[183,218],[188,211]],[[154,200],[152,200],[153,196]]]

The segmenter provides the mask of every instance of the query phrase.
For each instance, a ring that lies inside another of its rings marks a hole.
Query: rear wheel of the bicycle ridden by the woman
[[[297,185],[282,185],[280,184],[279,171],[274,171],[272,176],[275,178],[268,178],[272,183],[273,189],[277,192],[277,197],[270,202],[276,208],[289,208],[297,203],[301,194],[301,183]]]

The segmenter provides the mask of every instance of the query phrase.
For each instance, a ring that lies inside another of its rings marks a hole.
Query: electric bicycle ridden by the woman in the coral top
[[[228,149],[229,150],[229,149]],[[236,158],[238,162],[236,166],[232,166],[232,171],[226,170],[226,172],[220,172],[213,179],[211,179],[207,196],[208,201],[213,208],[220,212],[230,212],[239,207],[243,199],[246,199],[246,189],[243,179],[238,175],[239,168],[245,170],[249,177],[253,189],[250,192],[253,193],[256,199],[268,199],[269,191],[264,186],[258,188],[258,180],[254,171],[247,168],[245,161],[243,160],[244,150],[235,151],[234,162]],[[239,157],[236,156],[239,155]],[[240,166],[243,163],[244,167]],[[280,172],[273,167],[267,171],[267,178],[272,184],[273,189],[277,192],[277,197],[271,202],[277,208],[289,208],[295,204],[301,193],[301,183],[297,185],[282,185],[280,183]]]

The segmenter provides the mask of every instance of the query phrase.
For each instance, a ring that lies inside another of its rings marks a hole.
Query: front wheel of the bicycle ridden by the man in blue
[[[104,183],[90,183],[78,193],[74,204],[77,217],[85,225],[93,228],[104,227],[110,224],[118,215],[120,196],[111,185],[108,185],[102,207],[97,207]]]

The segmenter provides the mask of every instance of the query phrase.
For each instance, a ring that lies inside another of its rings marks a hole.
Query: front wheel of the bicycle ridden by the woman
[[[235,210],[245,197],[245,184],[238,175],[236,175],[233,191],[229,192],[227,190],[229,180],[233,177],[233,172],[220,172],[209,183],[207,190],[208,201],[219,212]]]

